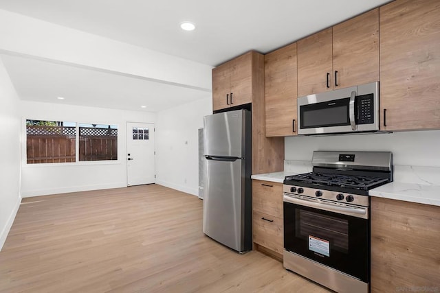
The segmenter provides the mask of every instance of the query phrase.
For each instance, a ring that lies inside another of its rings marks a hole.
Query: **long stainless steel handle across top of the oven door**
[[[353,217],[357,218],[369,218],[369,209],[366,207],[337,207],[333,204],[329,204],[318,199],[294,198],[292,196],[283,196],[283,201],[290,202],[292,204],[299,204],[305,207],[322,209],[324,211],[334,211],[336,213],[343,213],[344,215],[353,215]]]

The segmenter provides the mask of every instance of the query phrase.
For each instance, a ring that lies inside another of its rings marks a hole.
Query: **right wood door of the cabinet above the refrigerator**
[[[230,106],[252,102],[252,55],[250,51],[230,60]]]

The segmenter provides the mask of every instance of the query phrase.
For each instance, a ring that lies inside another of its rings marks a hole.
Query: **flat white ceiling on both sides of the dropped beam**
[[[0,0],[0,9],[216,66],[250,49],[265,54],[386,2]],[[196,30],[181,31],[182,21],[195,23]],[[53,102],[54,95],[64,95],[69,104],[131,110],[145,104],[156,111],[207,96],[123,75],[17,56],[1,58],[22,99]]]

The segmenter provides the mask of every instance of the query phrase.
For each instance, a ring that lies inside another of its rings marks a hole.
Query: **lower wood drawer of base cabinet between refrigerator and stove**
[[[254,243],[283,254],[283,219],[253,211],[252,237]]]

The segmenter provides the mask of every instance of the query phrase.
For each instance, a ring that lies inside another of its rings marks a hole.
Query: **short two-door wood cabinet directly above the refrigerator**
[[[212,110],[252,102],[252,82],[259,74],[257,54],[249,51],[212,69]]]

